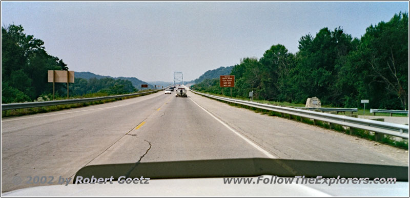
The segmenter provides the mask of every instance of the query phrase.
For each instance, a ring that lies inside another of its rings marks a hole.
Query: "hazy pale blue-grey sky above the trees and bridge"
[[[22,25],[70,70],[186,81],[258,57],[272,45],[341,26],[353,37],[408,12],[407,2],[2,2],[2,26]]]

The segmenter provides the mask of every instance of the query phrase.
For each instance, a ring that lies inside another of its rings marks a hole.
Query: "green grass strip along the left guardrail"
[[[147,92],[147,91],[150,91],[150,90],[138,91],[138,92],[135,92],[135,93],[141,93],[141,92]],[[59,111],[59,110],[63,110],[63,109],[85,107],[85,106],[90,106],[90,105],[97,105],[97,104],[109,103],[109,102],[113,102],[113,101],[125,100],[125,99],[128,99],[128,98],[139,97],[139,96],[148,95],[148,94],[151,94],[151,93],[146,93],[146,94],[141,94],[141,95],[134,95],[134,96],[127,96],[127,97],[120,97],[120,98],[113,98],[113,99],[109,99],[109,100],[93,101],[93,102],[87,102],[87,103],[74,103],[74,104],[68,104],[68,105],[53,105],[53,106],[46,106],[46,107],[11,109],[11,110],[2,111],[2,118],[3,117],[10,117],[10,116],[22,116],[22,115],[28,115],[28,114],[45,113],[45,112],[51,112],[51,111]],[[73,98],[101,97],[101,96],[108,96],[108,94],[107,93],[100,93],[100,92],[99,93],[90,93],[90,94],[85,94],[83,96],[70,97],[70,99],[73,99]],[[58,99],[59,100],[66,100],[67,98],[58,98]]]

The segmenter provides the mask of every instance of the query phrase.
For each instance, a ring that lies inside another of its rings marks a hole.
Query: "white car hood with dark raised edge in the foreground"
[[[396,177],[396,184],[224,184],[221,177]],[[228,159],[92,165],[74,176],[149,177],[149,184],[69,184],[32,187],[4,196],[408,196],[408,167],[279,159]]]

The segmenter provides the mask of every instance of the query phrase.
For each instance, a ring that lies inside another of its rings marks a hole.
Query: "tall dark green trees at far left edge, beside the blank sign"
[[[43,45],[41,39],[26,35],[21,25],[2,27],[2,84],[9,90],[2,94],[2,103],[32,101],[52,92],[47,70],[68,70],[62,60],[47,54]],[[57,90],[63,88],[65,85],[56,84]]]

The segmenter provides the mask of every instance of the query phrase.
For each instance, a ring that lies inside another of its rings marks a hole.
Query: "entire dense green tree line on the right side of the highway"
[[[368,99],[371,108],[408,109],[408,13],[367,27],[360,39],[340,27],[322,28],[301,36],[298,49],[293,54],[278,44],[259,60],[243,58],[231,71],[233,96],[253,90],[258,100],[305,103],[317,96],[322,104],[348,108]],[[218,78],[193,89],[222,93]]]

